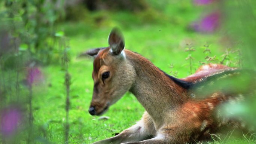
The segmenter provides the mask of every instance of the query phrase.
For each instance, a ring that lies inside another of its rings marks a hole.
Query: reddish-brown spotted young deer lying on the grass
[[[243,99],[239,90],[234,93],[220,88],[196,98],[204,95],[201,83],[236,75],[239,69],[208,64],[191,76],[177,79],[143,56],[124,49],[123,36],[116,28],[108,41],[109,47],[85,53],[94,57],[89,113],[103,114],[127,91],[136,96],[146,112],[137,124],[93,144],[183,144],[207,140],[225,126],[245,129],[241,120],[220,117],[217,110],[226,101]]]

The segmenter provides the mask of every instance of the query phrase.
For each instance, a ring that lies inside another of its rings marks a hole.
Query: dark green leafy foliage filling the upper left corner
[[[49,64],[55,52],[55,24],[65,16],[63,4],[64,0],[1,1],[1,27],[12,39],[18,39],[20,51],[28,51],[32,59]]]

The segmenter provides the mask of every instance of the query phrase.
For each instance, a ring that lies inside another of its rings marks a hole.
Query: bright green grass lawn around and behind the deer
[[[176,4],[176,5],[175,5]],[[161,4],[158,4],[161,8]],[[104,116],[108,120],[88,113],[92,97],[93,80],[92,59],[77,59],[78,53],[90,48],[108,46],[107,37],[114,26],[119,26],[125,36],[126,49],[138,52],[150,59],[156,66],[167,73],[177,71],[179,78],[190,74],[186,43],[193,43],[196,49],[192,52],[195,71],[199,61],[205,62],[204,45],[210,45],[210,56],[221,59],[224,48],[219,44],[218,34],[198,34],[187,29],[189,22],[196,19],[200,10],[191,3],[173,3],[163,13],[148,11],[131,14],[128,12],[98,12],[81,22],[69,22],[58,27],[64,30],[70,43],[70,74],[71,74],[71,108],[70,108],[70,143],[89,144],[94,141],[112,137],[115,133],[135,124],[141,118],[144,108],[136,98],[127,92],[115,105],[110,107]],[[103,17],[100,23],[94,18]],[[148,17],[152,19],[147,19]],[[235,61],[235,55],[231,58]],[[173,68],[170,65],[173,64]],[[64,71],[60,65],[49,65],[42,68],[45,82],[35,88],[33,99],[34,123],[45,129],[45,137],[54,143],[64,141],[65,122],[65,86]],[[212,143],[223,143],[220,140]],[[235,140],[231,143],[248,143]]]

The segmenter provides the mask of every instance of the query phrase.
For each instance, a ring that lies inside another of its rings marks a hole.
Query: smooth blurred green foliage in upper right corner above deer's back
[[[222,1],[226,13],[224,27],[232,39],[237,40],[236,47],[241,48],[241,53],[246,55],[244,59],[244,67],[256,68],[254,56],[256,35],[256,1],[234,0]],[[235,9],[240,9],[239,11]]]

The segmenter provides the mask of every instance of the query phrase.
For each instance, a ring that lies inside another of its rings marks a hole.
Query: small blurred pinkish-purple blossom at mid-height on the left
[[[28,68],[27,73],[27,83],[28,85],[33,85],[35,82],[39,82],[42,80],[42,73],[38,67],[30,67]]]

